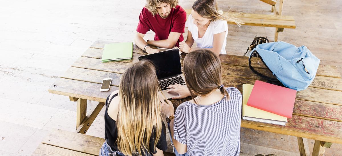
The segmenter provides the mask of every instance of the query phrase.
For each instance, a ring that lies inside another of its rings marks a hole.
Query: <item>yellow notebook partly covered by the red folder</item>
[[[252,84],[242,85],[242,120],[264,122],[285,126],[287,118],[274,113],[270,113],[258,108],[247,106],[249,95],[253,89]]]

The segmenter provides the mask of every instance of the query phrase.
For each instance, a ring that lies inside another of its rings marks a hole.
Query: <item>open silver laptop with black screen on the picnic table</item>
[[[170,99],[179,95],[176,92],[167,92],[170,90],[168,87],[171,84],[178,83],[181,85],[186,85],[184,81],[184,75],[182,74],[179,49],[171,49],[163,52],[147,54],[140,56],[138,60],[150,60],[154,63],[156,67],[158,84],[161,89],[158,91],[159,97],[162,97],[163,94],[167,99]]]

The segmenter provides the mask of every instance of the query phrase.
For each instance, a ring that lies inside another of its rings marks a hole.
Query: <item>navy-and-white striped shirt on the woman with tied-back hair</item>
[[[234,87],[212,105],[182,103],[175,112],[174,139],[189,156],[239,156],[242,96]]]

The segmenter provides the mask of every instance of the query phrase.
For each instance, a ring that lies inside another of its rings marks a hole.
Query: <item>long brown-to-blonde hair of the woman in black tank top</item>
[[[117,117],[118,150],[125,155],[149,152],[152,133],[154,147],[161,135],[162,117],[158,99],[158,79],[149,61],[134,63],[122,74]],[[155,125],[154,125],[155,123]],[[154,129],[155,128],[155,129]]]

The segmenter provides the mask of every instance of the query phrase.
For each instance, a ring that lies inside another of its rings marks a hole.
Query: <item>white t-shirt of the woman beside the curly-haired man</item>
[[[205,34],[202,38],[198,38],[198,27],[194,24],[194,19],[192,18],[191,14],[189,15],[188,19],[185,22],[185,27],[191,32],[192,37],[194,38],[195,42],[197,43],[198,48],[212,48],[213,41],[214,41],[214,34],[218,34],[221,32],[226,31],[226,35],[224,37],[223,45],[221,52],[222,54],[226,53],[226,44],[227,44],[227,35],[228,35],[228,24],[227,21],[224,20],[215,20],[211,21]]]

